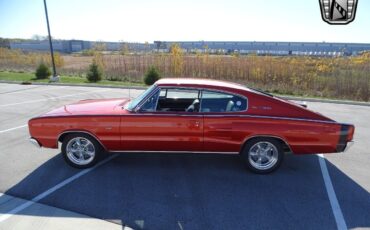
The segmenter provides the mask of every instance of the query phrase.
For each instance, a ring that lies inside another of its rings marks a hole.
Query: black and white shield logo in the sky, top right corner
[[[319,0],[322,19],[333,25],[345,25],[356,16],[358,0]]]

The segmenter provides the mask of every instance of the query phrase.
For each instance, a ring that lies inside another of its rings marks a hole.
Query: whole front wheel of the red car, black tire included
[[[100,159],[102,146],[84,133],[70,134],[62,143],[64,160],[72,167],[84,169],[94,166]]]

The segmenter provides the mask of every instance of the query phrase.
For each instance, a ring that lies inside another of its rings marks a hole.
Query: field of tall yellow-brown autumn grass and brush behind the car
[[[212,78],[273,93],[370,101],[370,52],[351,57],[185,54],[175,44],[169,53],[69,55],[64,65],[59,54],[55,57],[60,74],[84,74],[93,59],[107,79],[141,82],[148,67],[156,66],[163,77]],[[50,55],[0,49],[0,70],[34,70],[40,60],[50,63]]]

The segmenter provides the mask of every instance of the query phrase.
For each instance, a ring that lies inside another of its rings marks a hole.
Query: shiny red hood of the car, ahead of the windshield
[[[41,117],[76,116],[76,115],[115,115],[120,114],[122,107],[129,99],[87,99],[47,112]]]

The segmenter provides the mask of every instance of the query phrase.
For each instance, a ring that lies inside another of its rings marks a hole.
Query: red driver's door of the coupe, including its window
[[[203,151],[199,90],[159,88],[121,119],[127,151]],[[197,108],[198,107],[198,108]]]

